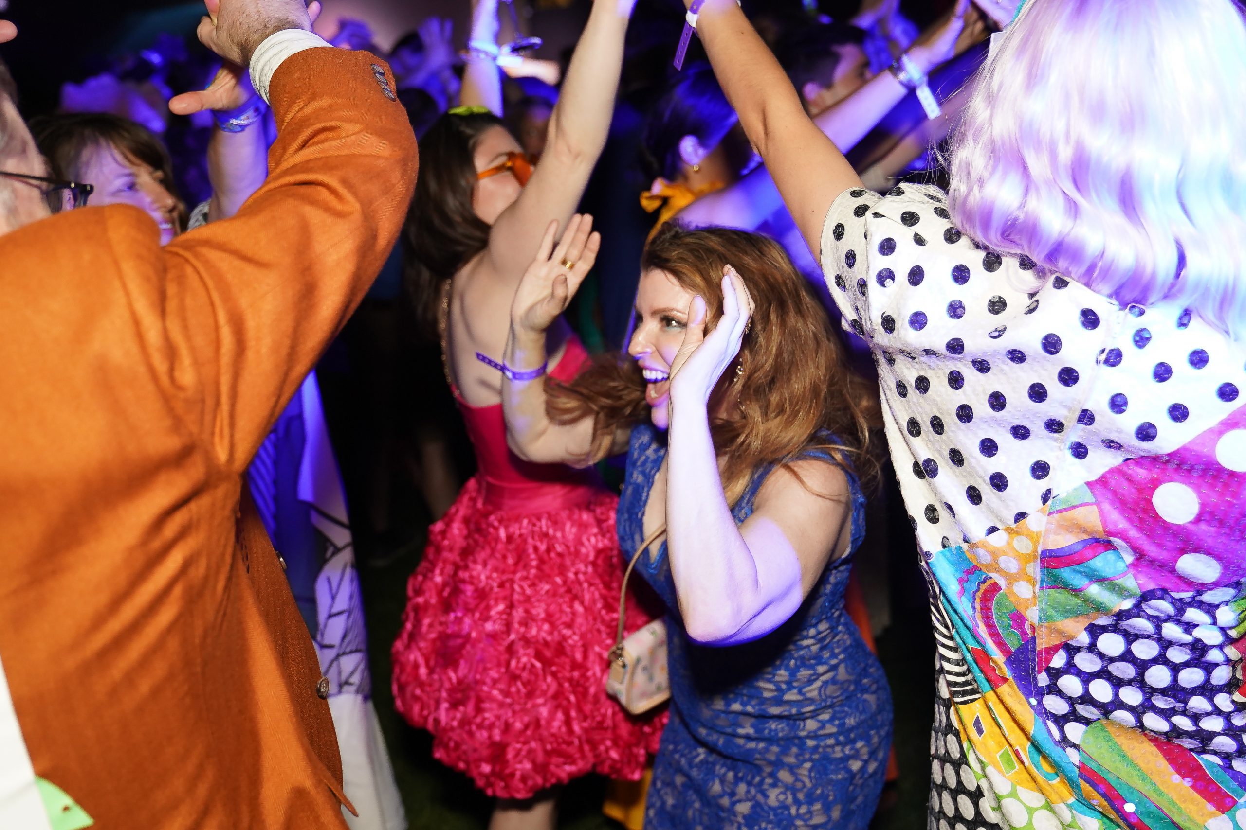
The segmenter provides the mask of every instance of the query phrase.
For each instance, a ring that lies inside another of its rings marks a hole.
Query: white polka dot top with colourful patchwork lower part
[[[846,192],[821,259],[878,366],[972,811],[1216,830],[1246,801],[1246,350],[1039,280],[944,203]]]

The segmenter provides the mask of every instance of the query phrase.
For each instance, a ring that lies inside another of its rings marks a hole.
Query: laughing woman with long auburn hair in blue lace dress
[[[876,469],[868,387],[776,243],[678,226],[645,250],[628,353],[533,380],[596,256],[589,225],[557,250],[551,226],[523,277],[503,406],[527,460],[627,449],[621,545],[659,539],[638,570],[667,605],[672,707],[645,828],[863,829],[891,739],[886,678],[844,610],[857,475]]]

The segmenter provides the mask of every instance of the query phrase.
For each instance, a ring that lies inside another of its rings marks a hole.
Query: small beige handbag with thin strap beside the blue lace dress
[[[654,620],[623,637],[628,579],[640,554],[647,551],[665,530],[667,526],[662,525],[640,544],[640,549],[627,566],[623,590],[619,592],[619,631],[614,648],[611,650],[611,671],[606,676],[606,691],[632,714],[643,714],[670,698],[670,677],[667,673],[667,623]]]

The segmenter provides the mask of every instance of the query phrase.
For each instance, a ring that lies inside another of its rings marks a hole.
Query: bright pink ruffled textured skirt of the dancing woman
[[[606,693],[618,499],[545,488],[500,505],[467,483],[429,531],[392,652],[399,712],[432,733],[437,760],[506,799],[591,772],[639,779],[665,725],[664,711],[633,718]],[[629,597],[627,631],[649,618]]]

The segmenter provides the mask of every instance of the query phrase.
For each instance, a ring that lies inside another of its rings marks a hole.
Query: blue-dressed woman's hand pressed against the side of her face
[[[723,372],[740,353],[744,332],[753,319],[753,295],[734,268],[723,269],[723,316],[708,336],[705,335],[705,300],[693,297],[688,309],[688,327],[684,342],[670,365],[670,402],[709,402]]]

